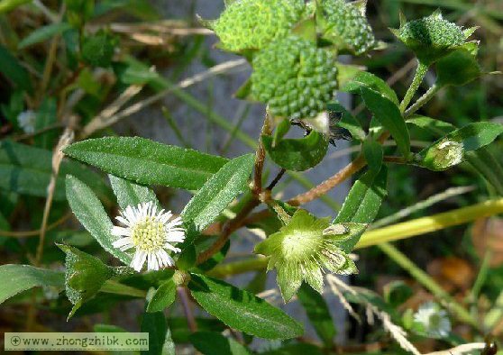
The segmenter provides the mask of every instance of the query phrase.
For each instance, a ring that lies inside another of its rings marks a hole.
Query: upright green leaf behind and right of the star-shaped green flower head
[[[365,173],[352,186],[334,223],[372,223],[387,195],[387,183],[386,166],[381,167],[377,175],[373,171]],[[361,233],[355,233],[352,238],[344,241],[343,250],[350,252],[363,232],[364,230],[361,230]]]

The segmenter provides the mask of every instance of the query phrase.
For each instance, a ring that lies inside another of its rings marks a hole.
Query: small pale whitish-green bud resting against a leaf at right
[[[462,162],[464,149],[459,141],[443,140],[426,151],[422,164],[425,168],[442,171]]]

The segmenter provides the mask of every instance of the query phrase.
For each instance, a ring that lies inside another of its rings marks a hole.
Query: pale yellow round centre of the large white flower
[[[152,252],[164,246],[164,225],[152,217],[146,217],[133,226],[132,239],[137,249]]]

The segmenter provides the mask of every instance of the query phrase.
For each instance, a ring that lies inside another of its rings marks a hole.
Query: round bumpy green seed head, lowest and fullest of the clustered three
[[[253,58],[251,94],[275,116],[314,117],[334,97],[334,61],[311,41],[295,36],[273,41]]]

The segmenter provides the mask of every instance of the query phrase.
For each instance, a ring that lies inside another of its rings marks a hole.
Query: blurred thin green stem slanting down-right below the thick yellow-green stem
[[[422,269],[417,268],[412,260],[408,259],[405,254],[400,252],[397,248],[389,243],[382,243],[378,245],[390,259],[393,259],[402,269],[412,275],[416,280],[430,291],[437,298],[444,300],[447,307],[456,315],[456,317],[464,322],[469,323],[475,328],[479,328],[479,323],[474,319],[471,314],[459,303],[457,303],[451,295],[445,292],[444,288],[440,287],[433,278],[425,273]]]

